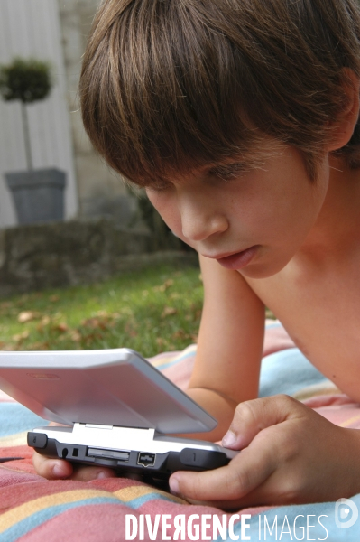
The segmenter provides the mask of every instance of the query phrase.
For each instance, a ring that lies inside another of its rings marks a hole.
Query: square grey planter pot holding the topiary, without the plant
[[[66,174],[55,168],[5,173],[19,224],[64,220]]]

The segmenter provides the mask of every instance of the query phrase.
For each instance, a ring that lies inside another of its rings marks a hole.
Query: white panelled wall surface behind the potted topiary
[[[0,0],[0,63],[14,56],[51,61],[55,86],[50,98],[28,106],[33,167],[67,173],[65,215],[78,211],[69,104],[57,0]],[[20,104],[0,99],[0,228],[16,224],[4,173],[26,168]]]

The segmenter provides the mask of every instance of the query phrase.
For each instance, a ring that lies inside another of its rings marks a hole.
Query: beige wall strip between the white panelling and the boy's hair
[[[79,110],[81,58],[99,3],[100,0],[58,0],[70,110],[74,111],[70,120],[78,180],[79,215],[83,219],[112,217],[119,226],[127,227],[129,223],[134,224],[137,202],[129,197],[120,175],[110,170],[95,153],[85,133]]]

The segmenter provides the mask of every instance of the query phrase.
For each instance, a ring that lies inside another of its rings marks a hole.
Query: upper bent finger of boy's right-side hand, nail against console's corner
[[[222,444],[226,448],[242,450],[266,427],[281,424],[295,412],[306,408],[299,401],[285,395],[263,397],[240,403]]]

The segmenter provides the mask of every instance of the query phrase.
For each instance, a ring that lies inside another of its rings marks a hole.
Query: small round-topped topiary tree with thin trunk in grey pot
[[[5,173],[20,224],[63,220],[64,216],[65,173],[56,168],[34,170],[32,166],[27,106],[47,98],[51,87],[48,62],[15,58],[10,64],[0,66],[0,93],[5,101],[19,100],[22,110],[27,171]]]

